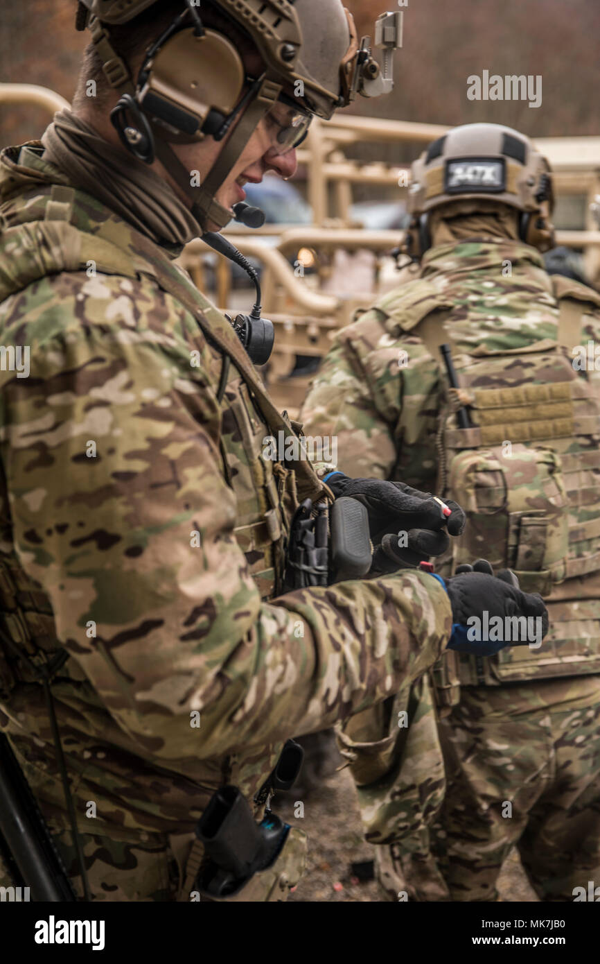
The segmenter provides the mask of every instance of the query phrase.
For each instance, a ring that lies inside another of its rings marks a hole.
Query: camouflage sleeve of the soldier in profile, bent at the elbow
[[[424,574],[261,602],[233,535],[219,406],[190,363],[206,345],[169,296],[107,277],[82,292],[62,275],[19,296],[12,324],[31,345],[30,376],[12,376],[4,401],[15,550],[143,755],[206,758],[326,727],[439,655],[451,608]]]

